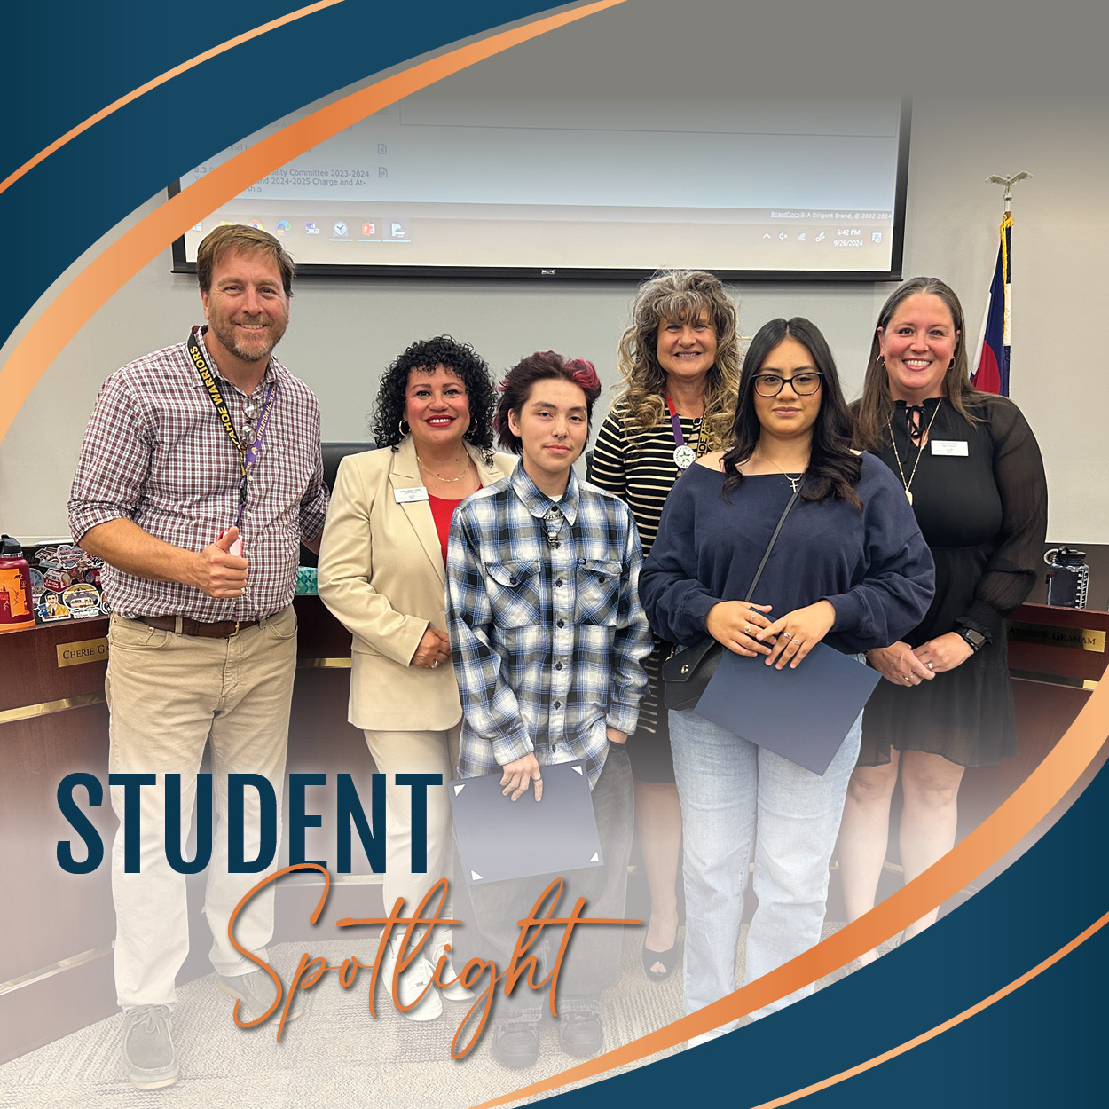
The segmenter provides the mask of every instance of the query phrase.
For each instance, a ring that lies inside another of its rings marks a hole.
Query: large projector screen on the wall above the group
[[[896,98],[458,85],[414,93],[274,171],[179,240],[174,268],[193,268],[204,234],[232,222],[283,238],[302,273],[901,277],[909,110]]]

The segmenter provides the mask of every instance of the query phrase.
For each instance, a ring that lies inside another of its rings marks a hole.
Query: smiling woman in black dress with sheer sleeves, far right
[[[955,844],[964,770],[1016,753],[1005,618],[1036,581],[1047,529],[1036,438],[1011,400],[970,385],[963,308],[935,277],[906,282],[882,308],[855,445],[905,488],[936,562],[936,598],[904,641],[867,654],[885,681],[863,716],[840,838],[851,920],[874,907],[898,770],[909,882]]]

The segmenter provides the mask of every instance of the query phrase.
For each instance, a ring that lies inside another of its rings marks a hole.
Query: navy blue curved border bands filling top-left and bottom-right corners
[[[298,7],[60,0],[7,11],[0,177],[142,82]],[[373,72],[548,7],[348,0],[128,105],[0,194],[8,260],[0,335],[11,333],[89,245],[202,159]],[[925,62],[929,49],[943,51],[939,40],[959,32],[957,21],[937,22],[934,33],[920,27]],[[283,67],[294,54],[296,68]],[[1102,771],[1039,845],[873,968],[712,1046],[550,1103],[608,1109],[621,1097],[643,1105],[726,1099],[754,1106],[932,1028],[1028,970],[1109,909],[1107,813],[1109,777]],[[1109,937],[1102,929],[980,1015],[805,1105],[1100,1105],[1107,970]]]

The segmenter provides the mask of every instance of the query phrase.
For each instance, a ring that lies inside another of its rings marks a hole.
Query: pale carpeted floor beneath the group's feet
[[[825,935],[837,927],[826,925]],[[603,998],[607,1048],[682,1016],[681,964],[667,981],[648,981],[641,937],[640,929],[628,932],[620,984]],[[349,954],[344,946],[342,940],[315,944],[313,954],[338,964]],[[271,950],[286,981],[302,950],[294,944]],[[123,1017],[118,1015],[0,1066],[0,1109],[462,1109],[580,1061],[560,1050],[553,1020],[545,1021],[539,1062],[528,1070],[509,1071],[495,1062],[489,1029],[456,1061],[450,1041],[470,1003],[444,1003],[438,1020],[414,1024],[379,989],[383,1004],[373,1017],[368,971],[362,975],[365,979],[344,990],[337,975],[328,974],[306,994],[304,1016],[286,1025],[281,1044],[274,1022],[237,1028],[232,999],[210,975],[179,990],[173,1029],[181,1080],[175,1086],[131,1087],[120,1062]]]

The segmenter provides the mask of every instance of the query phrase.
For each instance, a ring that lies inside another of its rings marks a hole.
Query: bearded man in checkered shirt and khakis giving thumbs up
[[[220,815],[204,905],[211,958],[245,1019],[274,999],[269,977],[227,938],[232,910],[260,878],[228,874],[227,775],[269,780],[279,842],[296,668],[291,602],[301,542],[316,549],[327,509],[319,406],[272,355],[293,272],[263,231],[226,225],[207,235],[196,275],[208,326],[108,379],[73,479],[73,537],[108,563],[110,771],[157,775],[135,791],[135,811],[122,786],[111,791],[115,987],[128,1014],[123,1062],[139,1089],[179,1075],[170,1018],[189,920],[184,875],[165,855],[164,775],[181,775],[181,813],[170,820],[180,820],[183,842],[210,736]],[[252,859],[267,830],[257,791],[244,793]],[[128,873],[124,826],[136,820],[140,868]],[[240,914],[236,938],[264,959],[272,935],[271,885]]]

